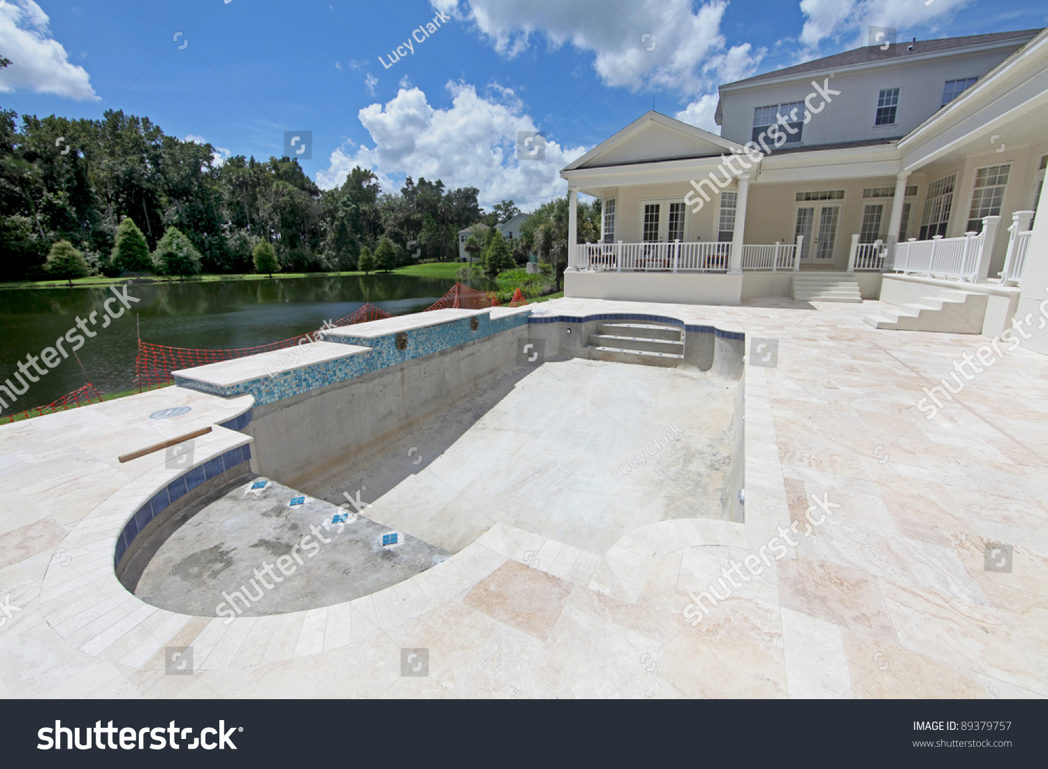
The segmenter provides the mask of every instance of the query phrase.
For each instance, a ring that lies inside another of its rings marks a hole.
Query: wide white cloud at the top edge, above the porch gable
[[[431,2],[472,22],[503,56],[517,56],[542,35],[554,48],[570,43],[592,52],[605,84],[633,90],[708,91],[717,79],[751,73],[764,56],[749,44],[727,47],[720,34],[726,0],[708,0],[694,13],[693,0],[639,0],[628,12],[606,0]]]

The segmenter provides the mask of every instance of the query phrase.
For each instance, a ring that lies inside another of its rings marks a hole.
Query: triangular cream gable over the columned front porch
[[[725,152],[730,153],[733,149],[741,151],[742,147],[709,131],[650,110],[565,166],[561,173],[659,160],[718,157]]]

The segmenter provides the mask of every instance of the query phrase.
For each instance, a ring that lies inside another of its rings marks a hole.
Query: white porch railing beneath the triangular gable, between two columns
[[[724,272],[730,258],[730,243],[580,243],[574,266],[616,272]]]

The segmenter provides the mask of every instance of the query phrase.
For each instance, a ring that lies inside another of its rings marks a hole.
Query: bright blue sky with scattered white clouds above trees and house
[[[434,17],[432,35],[420,32]],[[439,21],[439,18],[438,18]],[[354,164],[527,210],[556,171],[652,107],[713,124],[718,83],[861,44],[1048,25],[1043,2],[989,0],[0,0],[0,106],[148,116],[220,154],[283,154],[322,186]],[[178,36],[177,40],[176,35]],[[649,37],[646,37],[646,34]],[[418,38],[422,37],[422,42]],[[414,52],[393,63],[397,46]],[[649,50],[653,48],[652,50]],[[518,160],[517,131],[546,133]]]

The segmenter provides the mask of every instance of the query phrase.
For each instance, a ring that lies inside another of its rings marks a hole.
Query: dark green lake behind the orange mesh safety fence
[[[465,283],[495,290],[495,282],[486,279]],[[419,312],[454,285],[454,280],[401,274],[135,285],[128,291],[139,300],[133,310],[106,329],[101,320],[89,326],[96,335],[77,354],[96,388],[116,393],[135,387],[135,312],[145,342],[202,349],[254,347],[314,331],[325,321],[337,321],[369,302],[395,315]],[[77,325],[78,315],[87,318],[99,312],[101,318],[102,303],[110,296],[108,288],[2,290],[0,286],[0,381],[13,376],[27,355],[39,356],[53,346]],[[70,347],[65,345],[66,350]],[[0,413],[45,405],[84,383],[84,373],[70,355]]]

